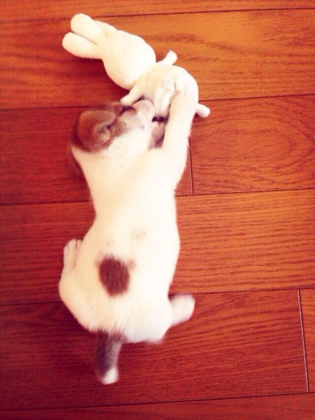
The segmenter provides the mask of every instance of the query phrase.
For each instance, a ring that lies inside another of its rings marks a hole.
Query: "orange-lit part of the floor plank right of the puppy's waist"
[[[314,286],[314,190],[195,196],[181,204],[175,288]]]

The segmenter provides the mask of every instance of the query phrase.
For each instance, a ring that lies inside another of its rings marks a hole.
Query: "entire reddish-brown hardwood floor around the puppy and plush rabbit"
[[[211,108],[177,190],[170,291],[195,312],[125,346],[109,386],[58,295],[63,245],[94,215],[67,167],[73,121],[125,94],[63,50],[77,12],[176,51]],[[315,419],[314,1],[2,0],[0,15],[0,418]]]

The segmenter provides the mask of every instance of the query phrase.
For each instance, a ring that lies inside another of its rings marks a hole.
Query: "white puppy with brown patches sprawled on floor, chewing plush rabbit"
[[[153,122],[149,100],[127,108],[107,104],[79,117],[71,149],[95,220],[82,242],[64,247],[59,291],[79,323],[98,332],[96,373],[103,384],[118,379],[123,343],[159,342],[192,315],[193,297],[169,299],[168,290],[180,248],[174,190],[195,109],[194,96],[182,91],[166,126]]]

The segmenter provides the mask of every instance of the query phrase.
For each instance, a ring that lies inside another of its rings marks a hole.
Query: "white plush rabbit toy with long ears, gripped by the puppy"
[[[188,71],[173,66],[177,60],[173,51],[157,63],[153,48],[144,39],[82,13],[71,19],[71,30],[63,37],[63,48],[78,57],[101,59],[108,76],[131,89],[122,98],[123,105],[144,97],[153,101],[158,116],[166,117],[173,96],[183,89],[193,92],[198,103],[197,82]],[[197,104],[196,113],[206,117],[210,109]]]

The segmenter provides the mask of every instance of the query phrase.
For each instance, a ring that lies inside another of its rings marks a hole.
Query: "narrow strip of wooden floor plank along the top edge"
[[[20,0],[20,3],[22,1]],[[46,0],[38,7],[36,0],[24,1],[27,7],[24,13],[16,13],[10,0],[0,4],[1,22],[21,22],[28,20],[55,20],[70,18],[75,13],[86,13],[90,16],[147,15],[164,13],[209,12],[216,10],[249,10],[249,9],[287,9],[314,7],[313,0],[116,0],[111,3],[85,0]]]

